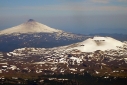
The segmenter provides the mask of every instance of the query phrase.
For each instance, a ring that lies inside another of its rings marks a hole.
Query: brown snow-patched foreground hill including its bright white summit
[[[0,84],[127,84],[127,42],[111,37],[54,48],[20,48],[0,52],[0,59]]]

